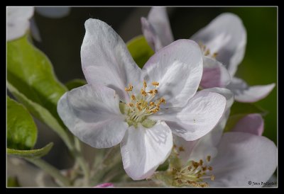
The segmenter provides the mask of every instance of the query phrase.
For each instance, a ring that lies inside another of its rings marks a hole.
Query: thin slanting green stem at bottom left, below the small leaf
[[[35,164],[35,166],[38,166],[40,169],[43,169],[50,176],[53,176],[53,178],[58,179],[58,181],[60,181],[60,186],[71,186],[70,180],[67,177],[63,176],[62,173],[58,171],[58,169],[48,164],[43,159],[27,159],[27,160]]]

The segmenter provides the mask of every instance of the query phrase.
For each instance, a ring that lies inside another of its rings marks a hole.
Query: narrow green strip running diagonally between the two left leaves
[[[45,125],[48,125],[52,130],[54,130],[67,144],[68,148],[72,148],[72,142],[70,142],[69,137],[67,136],[67,133],[65,129],[60,125],[58,120],[56,120],[53,115],[50,114],[50,112],[43,108],[43,106],[39,105],[38,103],[35,103],[31,100],[29,100],[26,96],[23,95],[23,93],[19,92],[12,84],[7,81],[7,87],[9,91],[17,98],[18,101],[23,103],[23,105],[26,106],[28,111],[35,117],[38,118],[41,122],[45,123]]]

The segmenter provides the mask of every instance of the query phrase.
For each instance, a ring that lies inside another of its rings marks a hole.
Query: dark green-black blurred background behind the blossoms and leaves
[[[84,79],[80,60],[80,47],[84,38],[84,21],[97,18],[111,25],[116,33],[127,42],[141,35],[141,16],[146,17],[150,7],[72,7],[62,18],[47,18],[35,12],[41,41],[34,40],[53,63],[55,74],[62,83],[71,79]],[[168,16],[175,40],[190,38],[220,13],[236,13],[247,31],[246,55],[239,65],[236,76],[250,85],[277,84],[277,24],[278,13],[275,7],[168,7]],[[277,144],[277,85],[271,94],[256,103],[268,114],[264,116],[264,136]],[[67,149],[52,130],[38,122],[38,143],[42,147],[55,142],[54,149],[45,156],[58,168],[72,165]],[[92,155],[87,145],[84,152]],[[91,153],[91,154],[90,154]]]

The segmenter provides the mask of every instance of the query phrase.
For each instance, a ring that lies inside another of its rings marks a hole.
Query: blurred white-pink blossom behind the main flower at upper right
[[[141,23],[143,34],[155,51],[173,42],[165,7],[151,8],[148,20],[141,18]],[[275,84],[248,86],[244,80],[234,77],[244,58],[246,29],[233,13],[217,16],[190,39],[199,42],[203,51],[204,72],[200,83],[203,88],[226,87],[239,102],[259,101],[274,88]]]

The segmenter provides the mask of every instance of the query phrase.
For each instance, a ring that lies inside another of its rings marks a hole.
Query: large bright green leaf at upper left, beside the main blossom
[[[7,42],[7,79],[60,120],[56,107],[67,89],[56,79],[48,57],[28,42],[27,35]]]

